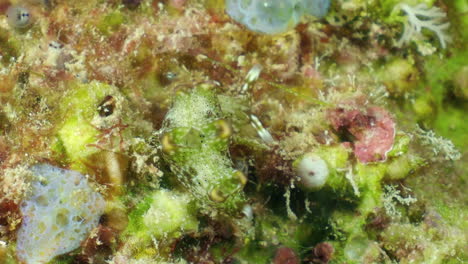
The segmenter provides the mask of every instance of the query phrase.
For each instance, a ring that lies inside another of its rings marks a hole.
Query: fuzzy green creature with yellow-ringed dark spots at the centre
[[[202,208],[233,212],[245,202],[247,178],[229,159],[232,129],[222,118],[213,89],[202,84],[176,96],[164,121],[162,150]]]

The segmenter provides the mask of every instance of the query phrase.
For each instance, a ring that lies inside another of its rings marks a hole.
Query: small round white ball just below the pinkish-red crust
[[[301,184],[307,189],[320,189],[327,182],[327,163],[315,154],[305,155],[296,166]]]

